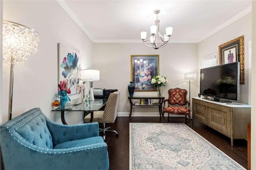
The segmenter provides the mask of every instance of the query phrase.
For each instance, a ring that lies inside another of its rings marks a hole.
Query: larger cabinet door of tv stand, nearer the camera
[[[218,130],[219,132],[231,136],[231,111],[230,107],[207,104],[208,109],[208,126]]]

